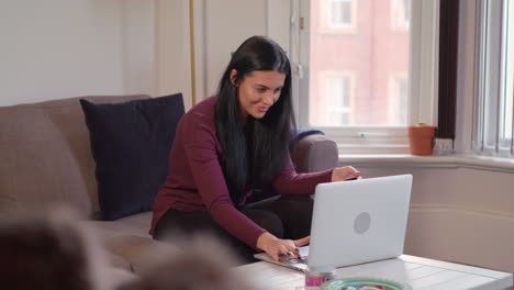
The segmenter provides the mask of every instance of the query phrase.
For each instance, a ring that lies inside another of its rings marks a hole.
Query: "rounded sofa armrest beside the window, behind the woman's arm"
[[[291,159],[298,172],[315,172],[337,167],[337,144],[325,135],[309,135],[293,147]]]

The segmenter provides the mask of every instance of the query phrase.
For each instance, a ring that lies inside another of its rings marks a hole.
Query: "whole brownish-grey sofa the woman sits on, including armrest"
[[[81,97],[112,103],[148,96]],[[0,209],[33,210],[67,204],[85,217],[115,267],[138,272],[145,260],[172,250],[148,234],[152,212],[100,221],[89,132],[80,98],[0,107]],[[293,149],[300,172],[337,166],[337,147],[323,135],[302,138]]]

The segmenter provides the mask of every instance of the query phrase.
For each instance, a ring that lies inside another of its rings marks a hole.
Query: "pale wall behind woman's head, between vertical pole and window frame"
[[[195,0],[197,101],[212,96],[231,53],[248,37],[267,35],[289,49],[289,0]]]

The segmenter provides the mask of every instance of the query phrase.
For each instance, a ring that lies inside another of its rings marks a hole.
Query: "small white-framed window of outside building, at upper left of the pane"
[[[356,0],[322,0],[315,1],[316,13],[322,16],[320,31],[322,33],[347,33],[355,31]]]

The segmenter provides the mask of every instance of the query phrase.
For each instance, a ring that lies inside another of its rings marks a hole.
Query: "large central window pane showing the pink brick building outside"
[[[311,1],[309,121],[313,126],[406,125],[409,25],[396,30],[391,23],[394,15],[409,21],[405,14],[409,1],[356,3],[356,0]],[[327,33],[321,26],[336,19],[351,22],[351,13],[360,20],[354,23],[353,31]],[[324,20],[326,16],[332,19]],[[334,77],[326,71],[346,77],[327,80]],[[391,79],[395,76],[405,77],[396,81],[392,97]]]

